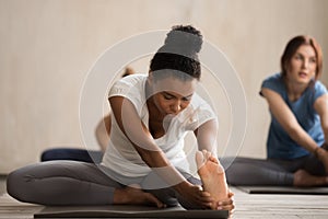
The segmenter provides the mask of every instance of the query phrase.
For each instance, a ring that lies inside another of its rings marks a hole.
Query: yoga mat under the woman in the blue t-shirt
[[[328,195],[328,187],[237,186],[248,194]]]

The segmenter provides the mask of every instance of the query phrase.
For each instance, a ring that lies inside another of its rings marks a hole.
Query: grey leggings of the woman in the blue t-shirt
[[[314,155],[294,160],[223,158],[220,161],[231,185],[293,185],[293,173],[300,169],[313,175],[326,174],[325,166]]]

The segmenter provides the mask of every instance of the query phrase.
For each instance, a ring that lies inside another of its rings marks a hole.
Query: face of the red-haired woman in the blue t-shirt
[[[289,81],[297,84],[307,84],[316,74],[316,53],[311,45],[302,45],[292,56],[288,67]]]

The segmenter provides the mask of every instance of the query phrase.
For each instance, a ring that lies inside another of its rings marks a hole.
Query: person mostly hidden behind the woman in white
[[[134,70],[127,67],[122,77],[133,74]],[[101,119],[95,129],[96,140],[101,147],[101,150],[86,150],[79,148],[54,148],[47,149],[42,153],[42,161],[51,161],[51,160],[74,160],[74,161],[84,161],[84,162],[95,162],[99,163],[103,159],[103,154],[106,150],[106,147],[109,142],[110,134],[110,114],[106,115]]]

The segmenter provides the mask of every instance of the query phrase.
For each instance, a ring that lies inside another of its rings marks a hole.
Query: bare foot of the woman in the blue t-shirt
[[[307,173],[305,170],[298,170],[294,173],[294,186],[298,187],[309,187],[327,185],[328,176],[315,176]]]

